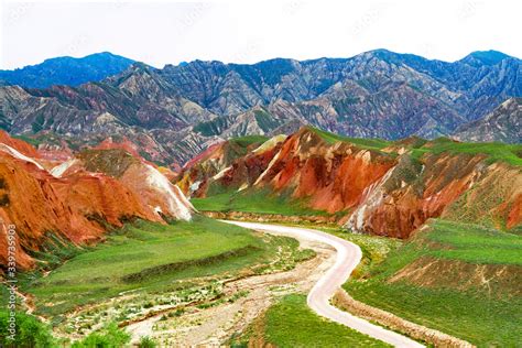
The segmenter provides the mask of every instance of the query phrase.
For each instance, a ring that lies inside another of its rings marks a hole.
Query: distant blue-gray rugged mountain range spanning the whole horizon
[[[454,63],[376,50],[350,58],[195,61],[162,69],[108,53],[89,57],[107,62],[96,68],[88,57],[73,59],[72,68],[57,58],[51,70],[31,67],[41,73],[28,73],[29,83],[9,79],[21,86],[0,88],[0,126],[43,146],[110,137],[149,160],[183,164],[221,139],[290,133],[303,124],[359,138],[432,139],[458,130],[460,139],[474,139],[465,124],[522,96],[521,61],[496,51]],[[74,76],[75,69],[102,79],[75,86],[88,75]],[[66,86],[30,88],[56,84]],[[520,142],[510,132],[498,139]]]

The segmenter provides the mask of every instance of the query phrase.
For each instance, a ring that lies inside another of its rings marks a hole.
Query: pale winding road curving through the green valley
[[[395,347],[424,347],[415,340],[412,340],[398,333],[387,330],[381,326],[371,324],[330,305],[330,298],[334,296],[335,292],[341,286],[342,283],[346,282],[361,260],[362,253],[357,244],[341,238],[307,228],[229,220],[224,220],[224,222],[274,235],[289,236],[297,239],[307,239],[309,241],[322,242],[335,248],[337,251],[336,262],[319,279],[319,281],[308,293],[308,306],[320,316],[346,325]]]

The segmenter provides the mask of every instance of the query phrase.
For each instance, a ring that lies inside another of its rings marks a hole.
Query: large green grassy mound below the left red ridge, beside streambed
[[[46,278],[29,276],[24,291],[37,312],[57,316],[122,292],[162,292],[175,281],[235,274],[274,258],[280,239],[195,216],[192,222],[138,221],[74,257]]]

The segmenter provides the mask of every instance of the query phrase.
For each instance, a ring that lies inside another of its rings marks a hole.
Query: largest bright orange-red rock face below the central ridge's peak
[[[282,144],[257,185],[289,189],[295,198],[308,198],[312,208],[334,214],[355,207],[394,162],[349,143],[329,145],[304,128]]]

